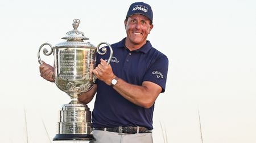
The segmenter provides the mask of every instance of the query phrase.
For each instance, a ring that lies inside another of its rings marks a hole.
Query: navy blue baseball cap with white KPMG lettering
[[[144,2],[135,2],[133,4],[131,4],[126,18],[128,18],[129,16],[133,15],[133,14],[142,14],[144,16],[146,16],[148,19],[151,20],[151,22],[153,21],[153,11],[151,9],[151,6],[148,5],[147,3]]]

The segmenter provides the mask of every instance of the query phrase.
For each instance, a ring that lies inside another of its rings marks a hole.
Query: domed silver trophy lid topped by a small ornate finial
[[[63,37],[62,39],[67,40],[66,42],[61,42],[56,46],[93,46],[89,42],[84,42],[84,40],[89,40],[89,38],[84,36],[84,32],[77,30],[79,27],[80,20],[74,19],[73,20],[73,30],[67,32],[67,36]]]

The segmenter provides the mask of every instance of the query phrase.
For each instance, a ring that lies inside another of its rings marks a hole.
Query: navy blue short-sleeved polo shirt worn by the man
[[[130,51],[125,47],[125,39],[112,45],[113,58],[110,64],[114,74],[135,85],[151,81],[160,85],[164,92],[168,71],[166,55],[152,47],[150,41],[141,49]],[[109,52],[97,55],[97,65],[100,58],[108,60]],[[153,129],[154,105],[145,109],[123,98],[112,86],[101,80],[97,80],[96,84],[98,88],[92,112],[93,127],[143,126]]]

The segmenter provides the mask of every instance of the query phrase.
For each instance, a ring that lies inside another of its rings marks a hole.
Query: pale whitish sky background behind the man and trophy
[[[40,77],[40,45],[63,42],[73,19],[91,44],[118,42],[133,2],[1,2],[0,142],[50,142],[70,101]],[[168,142],[201,142],[199,112],[203,142],[256,142],[256,1],[144,2],[154,12],[148,40],[170,62],[166,92],[155,102],[154,142],[164,142],[160,124]],[[52,55],[41,58],[53,66]]]

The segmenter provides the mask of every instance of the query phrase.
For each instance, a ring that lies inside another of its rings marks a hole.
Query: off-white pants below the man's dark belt
[[[152,133],[135,133],[119,135],[115,132],[94,130],[92,131],[96,141],[90,143],[152,143]]]

